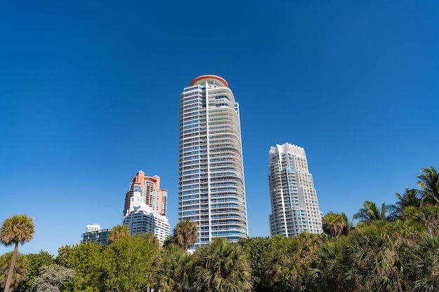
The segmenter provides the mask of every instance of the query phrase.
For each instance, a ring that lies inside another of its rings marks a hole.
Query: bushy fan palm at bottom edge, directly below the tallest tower
[[[192,257],[189,286],[195,291],[251,291],[252,269],[239,244],[217,237],[209,245],[198,247]]]

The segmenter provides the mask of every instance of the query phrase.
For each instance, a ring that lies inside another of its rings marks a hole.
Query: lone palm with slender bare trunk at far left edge
[[[9,292],[11,278],[15,267],[15,260],[18,253],[18,244],[29,242],[34,237],[34,219],[26,215],[15,215],[6,218],[0,229],[0,242],[5,246],[15,245],[9,267],[8,278],[6,279],[5,292]]]

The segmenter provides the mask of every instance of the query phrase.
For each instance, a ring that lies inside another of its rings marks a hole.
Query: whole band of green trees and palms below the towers
[[[351,221],[323,216],[324,234],[216,238],[194,253],[196,225],[180,221],[162,247],[151,233],[110,231],[109,244],[66,245],[58,256],[20,254],[32,239],[32,218],[6,218],[0,242],[0,286],[11,291],[162,292],[433,292],[439,291],[439,179],[421,169],[417,187],[395,204],[365,201]],[[355,222],[355,224],[354,224]]]

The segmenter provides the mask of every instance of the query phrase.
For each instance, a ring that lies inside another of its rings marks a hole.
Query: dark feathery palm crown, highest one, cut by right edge
[[[439,176],[434,167],[421,169],[422,174],[418,174],[417,177],[418,187],[421,188],[422,202],[439,204]]]

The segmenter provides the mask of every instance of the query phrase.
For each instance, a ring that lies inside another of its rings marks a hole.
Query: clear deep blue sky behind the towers
[[[251,237],[269,236],[276,144],[305,148],[324,214],[394,203],[439,169],[438,16],[433,0],[2,1],[0,221],[32,216],[19,251],[56,255],[121,224],[143,170],[173,228],[180,93],[203,74],[240,103]]]

